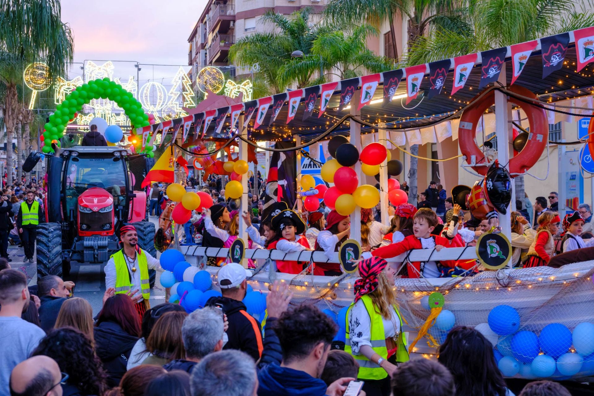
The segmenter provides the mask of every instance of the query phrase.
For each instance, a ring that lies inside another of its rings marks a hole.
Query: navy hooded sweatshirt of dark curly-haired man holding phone
[[[258,372],[258,396],[324,396],[327,385],[305,371],[271,363]]]

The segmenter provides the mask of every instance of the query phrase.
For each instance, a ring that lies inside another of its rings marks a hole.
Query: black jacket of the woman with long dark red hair
[[[109,387],[117,387],[126,372],[130,352],[138,337],[129,335],[115,322],[102,322],[94,329],[95,349],[108,375]]]

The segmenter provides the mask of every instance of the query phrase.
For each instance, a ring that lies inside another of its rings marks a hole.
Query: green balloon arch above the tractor
[[[42,147],[43,153],[53,151],[49,142],[56,140],[59,144],[59,139],[65,135],[64,130],[68,122],[74,119],[74,113],[80,112],[83,105],[90,103],[93,99],[109,99],[117,103],[124,109],[132,128],[149,125],[149,116],[146,115],[142,104],[134,98],[134,95],[109,78],[97,78],[97,80],[89,81],[89,83],[76,88],[64,98],[64,102],[56,106],[56,111],[49,116],[49,122],[45,124],[43,141],[48,143]],[[140,152],[141,145],[141,140],[134,145],[137,152]],[[153,146],[147,145],[143,153],[149,154],[150,157],[154,156]]]

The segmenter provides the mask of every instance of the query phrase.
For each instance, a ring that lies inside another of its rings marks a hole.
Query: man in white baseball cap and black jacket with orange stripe
[[[217,273],[222,296],[211,297],[206,306],[222,307],[227,315],[229,341],[223,349],[238,349],[258,360],[263,350],[260,322],[249,315],[242,302],[247,292],[247,278],[251,276],[251,271],[235,262],[223,265]]]

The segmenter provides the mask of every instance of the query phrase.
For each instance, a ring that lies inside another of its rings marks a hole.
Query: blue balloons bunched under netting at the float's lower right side
[[[489,312],[488,327],[476,326],[495,346],[495,360],[504,376],[558,378],[594,373],[594,324],[582,322],[572,333],[563,324],[551,323],[539,335],[517,331],[519,327],[520,315],[509,305]]]

